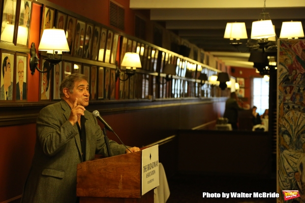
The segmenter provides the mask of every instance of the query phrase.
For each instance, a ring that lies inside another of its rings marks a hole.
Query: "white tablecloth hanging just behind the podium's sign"
[[[159,162],[159,186],[154,190],[154,203],[165,203],[169,197],[169,187],[164,167]]]

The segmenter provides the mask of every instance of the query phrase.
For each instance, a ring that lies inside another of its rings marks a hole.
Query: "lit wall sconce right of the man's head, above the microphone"
[[[140,60],[140,56],[138,53],[131,53],[131,52],[126,52],[124,55],[124,58],[120,64],[120,66],[126,66],[126,71],[125,73],[128,75],[128,77],[126,79],[120,79],[119,78],[119,73],[120,73],[120,69],[118,67],[118,62],[115,61],[115,81],[117,81],[117,79],[121,80],[121,81],[126,81],[128,80],[131,76],[136,74],[136,68],[141,68],[141,60]]]

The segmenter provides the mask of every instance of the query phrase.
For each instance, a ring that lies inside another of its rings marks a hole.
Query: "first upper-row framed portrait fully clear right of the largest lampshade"
[[[82,57],[84,40],[85,40],[85,30],[86,30],[86,23],[81,20],[77,20],[73,56]]]

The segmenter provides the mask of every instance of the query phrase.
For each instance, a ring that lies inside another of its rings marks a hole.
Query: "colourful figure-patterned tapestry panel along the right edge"
[[[278,49],[278,202],[305,202],[305,41],[280,40]],[[284,201],[283,190],[300,197]]]

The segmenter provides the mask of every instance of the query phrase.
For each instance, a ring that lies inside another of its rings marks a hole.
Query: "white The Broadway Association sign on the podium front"
[[[142,195],[159,186],[159,145],[142,150]]]

